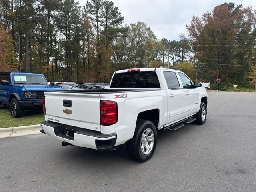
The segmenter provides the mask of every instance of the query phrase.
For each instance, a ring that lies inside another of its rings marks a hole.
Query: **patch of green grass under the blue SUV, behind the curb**
[[[36,125],[44,120],[42,111],[25,111],[24,116],[14,118],[10,114],[10,108],[0,106],[0,128]]]

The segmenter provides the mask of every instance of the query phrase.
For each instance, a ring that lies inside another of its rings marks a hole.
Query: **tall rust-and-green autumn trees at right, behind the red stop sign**
[[[250,66],[255,63],[256,17],[251,7],[224,3],[193,16],[187,30],[200,80],[248,84]]]

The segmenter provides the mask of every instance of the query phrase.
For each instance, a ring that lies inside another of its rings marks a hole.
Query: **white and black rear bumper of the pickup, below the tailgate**
[[[40,125],[46,134],[75,146],[109,150],[116,144],[116,133],[101,134],[97,131],[48,121],[43,121]]]

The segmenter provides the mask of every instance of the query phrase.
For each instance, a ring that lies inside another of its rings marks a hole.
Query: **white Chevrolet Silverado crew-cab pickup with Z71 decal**
[[[145,162],[154,153],[158,130],[177,130],[206,121],[208,95],[181,71],[136,68],[114,72],[110,89],[46,91],[42,133],[96,150],[126,144]]]

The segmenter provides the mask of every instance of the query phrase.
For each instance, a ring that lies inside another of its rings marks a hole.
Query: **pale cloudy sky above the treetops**
[[[86,5],[86,0],[79,0]],[[188,35],[186,24],[193,15],[202,16],[204,12],[224,2],[252,6],[256,10],[256,0],[112,0],[114,6],[124,16],[124,24],[145,22],[160,40],[179,40],[181,33]]]

